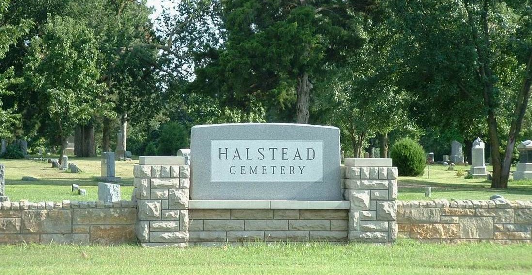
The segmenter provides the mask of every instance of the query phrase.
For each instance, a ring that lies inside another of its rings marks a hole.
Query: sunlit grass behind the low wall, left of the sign
[[[57,156],[55,156],[57,158]],[[98,199],[98,181],[100,158],[76,158],[69,157],[69,162],[76,164],[83,170],[82,173],[69,173],[57,168],[51,168],[52,164],[22,159],[1,159],[0,163],[6,166],[6,195],[11,201],[27,199],[32,202],[38,201],[94,201]],[[138,161],[115,162],[116,176],[121,177],[122,199],[131,199],[133,191],[133,166]],[[23,176],[39,179],[37,182],[22,181]],[[78,184],[87,190],[86,196],[71,194],[71,185]]]

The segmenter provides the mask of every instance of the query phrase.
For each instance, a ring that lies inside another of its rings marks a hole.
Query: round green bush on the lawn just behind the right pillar
[[[404,138],[395,142],[390,151],[393,164],[400,176],[417,177],[425,172],[425,150],[412,139]]]

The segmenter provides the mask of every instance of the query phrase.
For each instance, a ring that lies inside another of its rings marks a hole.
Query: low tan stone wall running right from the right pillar
[[[397,201],[398,235],[425,242],[532,242],[532,201]]]

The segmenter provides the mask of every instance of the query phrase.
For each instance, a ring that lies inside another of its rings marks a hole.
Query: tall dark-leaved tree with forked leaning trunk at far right
[[[396,47],[404,56],[402,87],[439,116],[484,118],[492,188],[506,188],[530,97],[531,2],[389,3],[401,26],[397,31],[408,38]]]

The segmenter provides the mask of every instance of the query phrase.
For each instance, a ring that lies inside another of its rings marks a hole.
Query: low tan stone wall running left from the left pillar
[[[135,242],[131,201],[2,202],[0,243]]]

